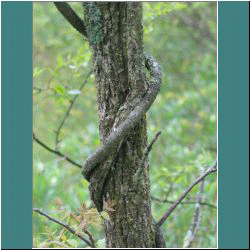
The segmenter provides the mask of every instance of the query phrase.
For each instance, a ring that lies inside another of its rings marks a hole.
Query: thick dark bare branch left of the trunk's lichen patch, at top
[[[54,2],[56,8],[60,11],[60,13],[65,17],[65,19],[83,36],[86,38],[87,30],[83,20],[74,12],[74,10],[69,6],[68,3],[65,2]]]

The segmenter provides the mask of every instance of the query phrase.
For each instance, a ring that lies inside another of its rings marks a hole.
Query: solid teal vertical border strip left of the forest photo
[[[1,2],[1,247],[32,248],[32,2]]]

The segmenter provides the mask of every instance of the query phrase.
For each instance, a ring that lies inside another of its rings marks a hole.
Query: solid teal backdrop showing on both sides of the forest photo
[[[249,248],[249,3],[218,3],[220,249]],[[32,2],[1,2],[2,249],[32,248]]]

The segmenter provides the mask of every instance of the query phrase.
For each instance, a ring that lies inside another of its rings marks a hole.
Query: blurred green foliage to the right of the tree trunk
[[[174,201],[216,159],[216,4],[146,3],[145,50],[163,69],[163,84],[148,114],[149,138],[162,130],[150,154],[152,196]],[[195,200],[198,187],[185,200]],[[216,176],[203,201],[216,204]],[[153,201],[154,216],[170,206]],[[194,205],[179,206],[164,225],[168,247],[182,247]],[[202,206],[193,247],[216,247],[216,209]],[[207,233],[209,232],[209,233]]]

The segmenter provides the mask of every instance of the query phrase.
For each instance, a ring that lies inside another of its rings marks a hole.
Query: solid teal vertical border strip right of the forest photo
[[[249,248],[249,2],[218,4],[218,243]]]

